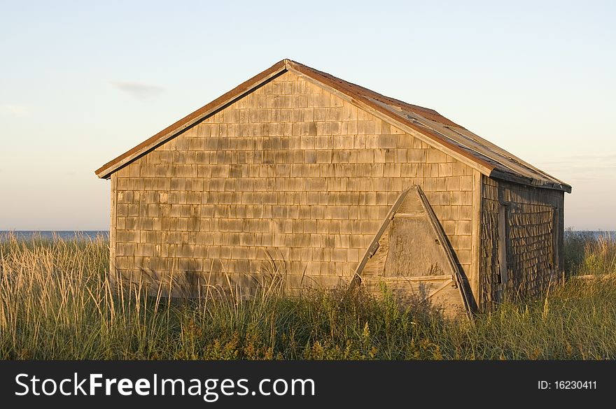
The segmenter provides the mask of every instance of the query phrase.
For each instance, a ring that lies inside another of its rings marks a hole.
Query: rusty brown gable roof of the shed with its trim
[[[351,84],[328,73],[323,73],[290,59],[283,59],[253,78],[241,83],[230,92],[195,110],[188,116],[158,132],[143,143],[101,166],[94,173],[99,178],[110,178],[130,162],[177,136],[181,131],[214,115],[260,85],[286,71],[308,80],[356,106],[409,132],[428,145],[443,150],[461,162],[491,178],[508,180],[534,187],[571,192],[570,185],[498,148],[460,125],[443,117],[435,110],[423,108],[378,94],[370,89]]]

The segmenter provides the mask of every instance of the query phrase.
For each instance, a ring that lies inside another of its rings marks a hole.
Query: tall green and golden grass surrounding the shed
[[[616,359],[616,241],[570,234],[570,279],[474,324],[387,294],[275,287],[251,301],[116,294],[108,243],[0,242],[0,359]]]

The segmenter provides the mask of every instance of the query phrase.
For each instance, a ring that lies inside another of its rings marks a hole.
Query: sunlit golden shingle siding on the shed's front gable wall
[[[290,287],[338,285],[414,184],[470,273],[472,169],[292,73],[114,177],[116,266],[136,280],[190,272],[249,291],[269,253]]]

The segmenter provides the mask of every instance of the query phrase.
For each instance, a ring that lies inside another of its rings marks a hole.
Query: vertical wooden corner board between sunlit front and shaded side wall
[[[481,274],[481,222],[482,222],[482,195],[483,178],[478,171],[472,172],[472,225],[471,225],[471,265],[470,265],[470,292],[475,301],[475,310],[479,310],[481,291],[479,275]]]

